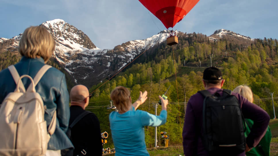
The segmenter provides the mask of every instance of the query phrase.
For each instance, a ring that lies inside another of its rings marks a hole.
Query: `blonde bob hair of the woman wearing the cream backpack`
[[[42,26],[31,26],[21,36],[18,51],[28,58],[42,57],[47,62],[55,50],[55,40]]]

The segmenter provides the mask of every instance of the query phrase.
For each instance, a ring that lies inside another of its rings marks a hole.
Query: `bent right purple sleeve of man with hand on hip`
[[[254,121],[250,134],[246,138],[246,143],[248,147],[255,147],[265,135],[270,117],[265,110],[252,104],[244,97],[238,95],[238,100],[242,104],[242,114],[244,118]]]

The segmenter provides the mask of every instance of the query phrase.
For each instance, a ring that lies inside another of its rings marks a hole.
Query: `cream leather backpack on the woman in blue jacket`
[[[8,67],[16,82],[16,89],[9,93],[0,108],[0,155],[44,155],[50,136],[56,127],[56,111],[47,129],[44,119],[46,107],[35,86],[44,73],[51,68],[44,65],[34,77],[29,75],[19,77],[16,68]],[[31,84],[25,91],[21,81],[28,77]]]

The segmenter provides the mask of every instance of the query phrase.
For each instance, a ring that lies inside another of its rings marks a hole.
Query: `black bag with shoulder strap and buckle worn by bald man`
[[[80,121],[84,116],[86,116],[87,114],[90,114],[91,112],[89,111],[85,111],[85,112],[82,112],[80,115],[78,115],[74,121],[72,122],[72,124],[70,124],[69,128],[67,129],[67,137],[70,138],[70,141],[72,141],[72,132],[71,132],[71,129],[72,127],[78,122]],[[80,151],[80,154],[79,156],[82,156],[82,155],[86,155],[86,148],[84,148],[82,151]],[[69,148],[69,149],[63,149],[61,150],[61,156],[73,156],[73,152],[74,152],[74,148]]]

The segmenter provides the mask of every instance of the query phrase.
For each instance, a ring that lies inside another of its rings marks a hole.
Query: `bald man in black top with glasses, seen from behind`
[[[78,115],[85,112],[89,104],[88,88],[76,85],[70,91],[70,124]],[[101,130],[99,120],[94,113],[89,113],[80,119],[71,129],[71,138],[74,145],[74,156],[81,156],[81,151],[86,151],[86,156],[102,155]],[[83,152],[85,153],[85,152]]]

